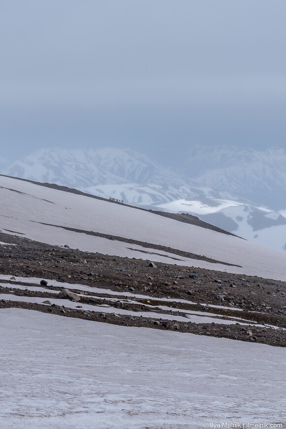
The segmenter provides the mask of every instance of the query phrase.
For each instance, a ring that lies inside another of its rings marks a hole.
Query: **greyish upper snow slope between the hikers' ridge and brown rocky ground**
[[[44,225],[40,225],[38,228],[38,224],[34,224],[31,220],[60,224],[190,251],[220,261],[241,265],[243,268],[210,264],[198,260],[195,262],[193,260],[188,262],[185,260],[176,261],[182,265],[286,280],[286,255],[279,251],[269,250],[236,237],[149,212],[50,189],[17,179],[0,177],[0,186],[25,192],[23,195],[19,192],[0,188],[0,197],[3,202],[0,229],[11,229],[18,233],[24,233],[32,239],[50,244],[57,244],[55,240],[59,240],[60,237],[63,240],[66,239],[62,245],[69,244],[71,247],[82,250],[85,248],[85,250],[114,254],[114,241],[99,240],[100,237],[72,233],[71,231],[65,231],[63,234],[63,230],[60,228]],[[110,243],[107,243],[108,241]],[[119,244],[117,243],[117,245]],[[109,251],[107,252],[108,246]],[[127,252],[126,243],[121,243],[119,246],[121,246],[121,250],[117,248],[116,254],[139,257],[136,251],[129,250],[130,253]],[[128,247],[133,247],[133,245]],[[113,253],[110,253],[112,250]],[[161,253],[161,251],[159,252]],[[145,258],[146,254],[143,257]],[[148,255],[148,258],[164,260],[164,257],[157,255]],[[170,263],[170,259],[166,257],[165,261]]]

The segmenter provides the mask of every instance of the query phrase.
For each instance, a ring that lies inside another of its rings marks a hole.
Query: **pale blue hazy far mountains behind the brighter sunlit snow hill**
[[[0,162],[0,169],[7,176],[100,191],[102,196],[125,199],[129,204],[204,195],[285,209],[286,148],[258,151],[236,146],[193,146],[165,156],[164,165],[161,159],[156,161],[133,150],[45,148],[8,168]],[[157,187],[155,192],[153,185]],[[134,194],[130,188],[134,188]],[[122,198],[125,189],[128,192]]]

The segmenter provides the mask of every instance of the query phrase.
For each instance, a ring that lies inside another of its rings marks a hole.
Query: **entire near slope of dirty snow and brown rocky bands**
[[[3,428],[286,425],[284,253],[19,179],[0,199]]]

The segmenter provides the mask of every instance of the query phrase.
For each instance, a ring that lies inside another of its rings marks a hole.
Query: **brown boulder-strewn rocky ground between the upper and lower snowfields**
[[[16,246],[0,245],[0,274],[55,279],[59,282],[108,288],[115,292],[126,291],[146,295],[146,298],[132,298],[137,303],[128,303],[122,299],[122,295],[115,294],[114,297],[122,300],[124,309],[134,312],[132,316],[104,313],[104,308],[102,312],[90,312],[54,304],[48,306],[9,300],[0,300],[0,308],[28,308],[91,321],[171,329],[286,346],[286,330],[281,329],[286,328],[285,282],[159,262],[156,262],[156,267],[148,267],[148,261],[142,259],[52,247],[3,233],[0,233],[0,241],[16,244]],[[3,281],[1,283],[5,284]],[[14,295],[41,296],[47,299],[57,297],[59,287],[51,285],[45,287],[53,289],[54,293],[19,289],[14,281],[8,281],[7,287],[0,288],[0,294],[12,290]],[[82,291],[79,289],[77,292]],[[80,303],[114,305],[114,301],[110,300],[110,296],[104,291],[102,294],[88,291],[88,295],[94,297],[85,297],[81,294],[79,305]],[[105,300],[99,300],[97,296],[104,297]],[[163,299],[163,302],[157,298]],[[171,300],[179,298],[189,303],[169,300],[164,302],[164,298]],[[218,308],[209,307],[209,304]],[[164,319],[164,314],[170,314],[170,311],[162,310],[158,305],[172,307],[172,315],[182,316],[181,312],[178,313],[179,309],[204,311],[233,321],[238,320],[237,318],[246,319],[262,326],[192,323],[187,318],[186,322],[168,322]],[[138,311],[152,311],[160,313],[162,317],[161,320],[139,317],[136,316]],[[263,324],[271,324],[278,329],[267,328]]]

